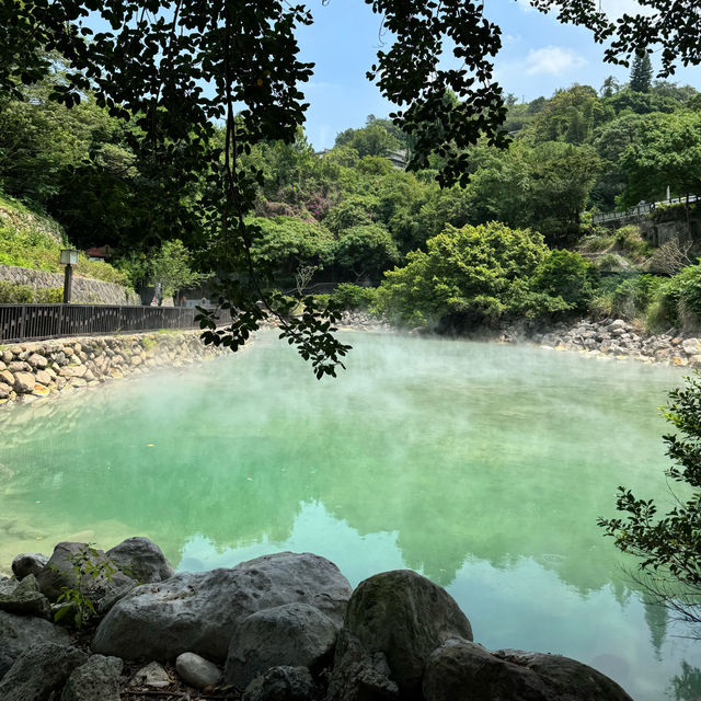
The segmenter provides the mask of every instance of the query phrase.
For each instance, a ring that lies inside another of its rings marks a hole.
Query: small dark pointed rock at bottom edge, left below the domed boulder
[[[397,683],[390,679],[384,653],[370,654],[345,629],[338,633],[327,701],[380,701],[399,699]]]

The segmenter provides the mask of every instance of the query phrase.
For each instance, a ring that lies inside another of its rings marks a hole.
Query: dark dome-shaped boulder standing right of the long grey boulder
[[[410,570],[377,574],[358,585],[345,628],[369,653],[383,652],[400,692],[415,696],[428,656],[451,637],[472,640],[472,628],[455,599]]]

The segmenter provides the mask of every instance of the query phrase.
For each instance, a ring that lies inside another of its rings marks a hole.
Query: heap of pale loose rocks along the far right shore
[[[508,332],[503,336],[504,341],[521,338]],[[544,348],[579,350],[591,356],[701,366],[701,338],[674,329],[648,335],[622,319],[585,319],[574,325],[559,324],[545,333],[528,334],[525,340]]]

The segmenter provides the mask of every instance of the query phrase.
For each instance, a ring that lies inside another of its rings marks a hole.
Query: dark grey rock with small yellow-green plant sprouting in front
[[[78,586],[76,568],[71,558],[79,555],[80,551],[87,547],[87,543],[64,541],[54,548],[54,553],[37,577],[39,589],[49,600],[54,601],[60,596],[61,587],[76,588]],[[107,567],[110,562],[105,553],[102,550],[96,552],[96,556],[89,556],[91,564]],[[100,599],[108,596],[114,590],[133,584],[134,579],[116,570],[111,575],[111,578],[104,574],[95,578],[90,576],[82,577],[81,587],[85,595],[93,599],[94,602],[99,602]]]

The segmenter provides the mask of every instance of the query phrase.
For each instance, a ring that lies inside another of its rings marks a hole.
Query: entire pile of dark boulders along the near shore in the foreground
[[[87,563],[96,576],[78,579]],[[12,570],[0,578],[3,701],[631,701],[574,659],[474,643],[450,595],[407,570],[353,590],[329,560],[283,552],[174,574],[146,538],[106,553],[62,542]],[[57,604],[61,591],[74,601]],[[95,613],[71,637],[88,599]]]

